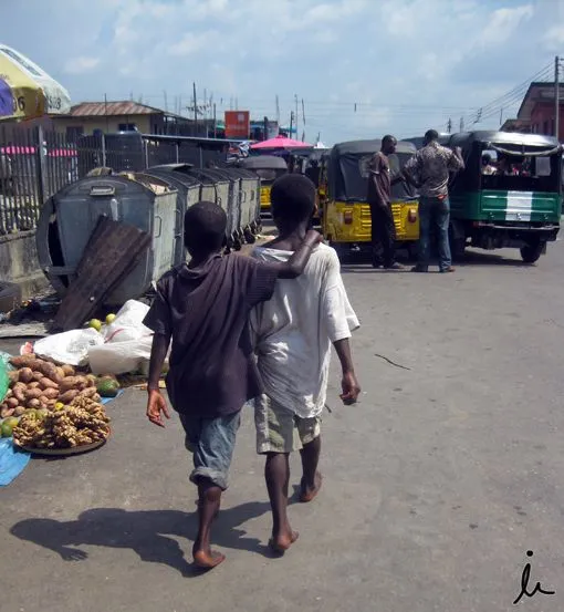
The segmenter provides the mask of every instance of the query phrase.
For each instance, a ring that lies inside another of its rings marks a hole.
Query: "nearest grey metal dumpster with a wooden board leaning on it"
[[[64,295],[98,217],[105,215],[152,236],[149,250],[106,304],[138,298],[173,267],[176,200],[177,191],[154,177],[90,177],[67,185],[46,200],[40,214],[36,247],[43,272]]]

